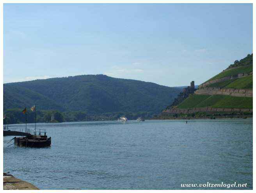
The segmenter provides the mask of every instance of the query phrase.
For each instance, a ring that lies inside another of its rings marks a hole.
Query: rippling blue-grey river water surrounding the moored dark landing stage
[[[4,172],[40,189],[193,189],[181,184],[207,182],[252,189],[252,119],[37,126],[52,146],[8,147],[12,137],[4,137]]]

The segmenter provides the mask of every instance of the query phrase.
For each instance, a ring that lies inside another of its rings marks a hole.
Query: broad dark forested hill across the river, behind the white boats
[[[37,104],[40,110],[161,112],[180,88],[107,75],[78,75],[4,84],[4,111]]]

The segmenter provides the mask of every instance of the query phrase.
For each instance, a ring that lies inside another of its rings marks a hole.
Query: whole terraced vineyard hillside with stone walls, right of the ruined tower
[[[235,61],[234,65],[230,65],[226,70],[199,85],[199,89],[178,106],[172,109],[167,108],[163,112],[184,114],[186,112],[241,111],[251,113],[252,70],[252,54],[248,54],[247,57]]]

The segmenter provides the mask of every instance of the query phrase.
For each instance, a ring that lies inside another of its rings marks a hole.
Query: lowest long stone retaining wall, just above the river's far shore
[[[167,109],[166,113],[194,113],[194,112],[252,112],[252,109],[236,109],[236,108],[214,108],[214,107],[198,107],[191,109]]]

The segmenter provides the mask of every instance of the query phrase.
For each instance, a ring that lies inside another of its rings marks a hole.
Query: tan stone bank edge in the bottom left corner
[[[4,173],[3,175],[3,188],[5,189],[39,189],[33,184],[22,181],[11,174]]]

